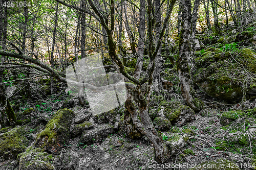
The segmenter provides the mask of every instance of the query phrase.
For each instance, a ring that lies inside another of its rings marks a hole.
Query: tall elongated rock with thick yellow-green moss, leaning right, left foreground
[[[69,142],[70,127],[74,117],[72,110],[59,109],[47,123],[46,128],[36,136],[36,147],[57,154],[63,145]]]

